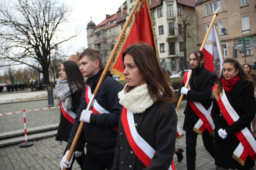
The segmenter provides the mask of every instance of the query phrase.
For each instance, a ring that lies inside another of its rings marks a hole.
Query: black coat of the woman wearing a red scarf
[[[233,89],[229,93],[225,91],[225,94],[240,118],[229,126],[221,114],[216,99],[213,100],[212,118],[215,124],[215,164],[229,169],[247,170],[255,165],[254,161],[248,156],[245,166],[242,166],[232,158],[232,155],[240,143],[235,133],[244,128],[248,128],[252,132],[251,122],[256,112],[254,87],[251,82],[240,79]],[[222,139],[219,137],[218,130],[220,128],[226,130],[227,138]]]

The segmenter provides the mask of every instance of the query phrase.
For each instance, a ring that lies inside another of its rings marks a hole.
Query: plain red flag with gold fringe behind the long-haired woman
[[[138,10],[137,13],[135,14],[135,17],[132,20],[129,31],[127,32],[127,35],[125,37],[125,40],[118,51],[118,54],[114,63],[111,66],[111,73],[113,75],[117,75],[120,78],[124,79],[124,76],[123,76],[124,66],[123,66],[123,60],[122,60],[123,51],[128,46],[138,41],[143,41],[145,43],[150,44],[155,49],[156,54],[158,56],[157,46],[155,41],[155,34],[154,34],[154,29],[153,29],[152,19],[151,19],[151,12],[150,12],[148,2],[146,0],[143,0],[141,2],[140,10]]]

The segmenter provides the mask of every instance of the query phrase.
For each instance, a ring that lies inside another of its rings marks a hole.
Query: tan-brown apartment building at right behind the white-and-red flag
[[[221,39],[224,58],[235,58],[240,63],[256,62],[255,0],[196,0],[195,7],[198,46],[201,46],[213,13],[219,7],[214,24]]]

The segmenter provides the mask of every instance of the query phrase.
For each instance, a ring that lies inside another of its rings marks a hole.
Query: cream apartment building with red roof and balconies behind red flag
[[[106,15],[106,18],[95,25],[90,21],[87,25],[87,43],[89,48],[98,49],[106,63],[111,51],[111,44],[117,40],[124,27],[136,0],[127,0],[113,15]],[[183,26],[180,17],[183,13],[190,13],[195,17],[195,0],[148,0],[153,20],[153,28],[156,36],[156,43],[159,52],[160,63],[172,73],[177,73],[184,66],[189,66],[188,53],[197,48],[197,32],[192,30],[194,36],[187,38],[184,48],[184,38],[180,35]],[[195,23],[196,24],[196,17]],[[184,53],[186,49],[186,54]],[[112,49],[111,49],[112,50]],[[186,60],[184,60],[186,56]]]

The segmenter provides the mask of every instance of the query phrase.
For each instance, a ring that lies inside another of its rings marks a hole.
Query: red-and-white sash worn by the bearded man
[[[190,74],[191,71],[186,72],[184,74],[184,84],[186,84],[186,81],[188,79],[188,75]],[[188,84],[188,89],[190,90],[190,86]],[[205,129],[208,130],[208,132],[212,135],[214,133],[215,125],[212,120],[212,115],[211,115],[211,110],[212,110],[212,105],[208,110],[206,110],[203,105],[200,102],[193,102],[193,101],[188,101],[192,110],[197,114],[199,117],[198,122],[195,124],[193,130],[202,135]]]

